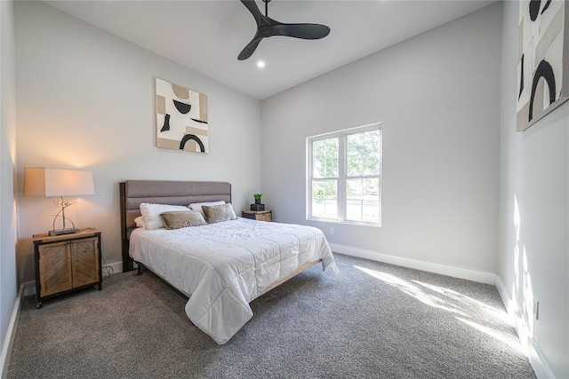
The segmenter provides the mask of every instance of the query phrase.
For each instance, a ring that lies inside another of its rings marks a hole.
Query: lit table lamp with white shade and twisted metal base
[[[65,217],[65,209],[75,202],[68,202],[63,196],[76,196],[84,194],[95,194],[92,185],[91,171],[84,170],[53,170],[37,167],[26,167],[24,169],[24,196],[59,196],[60,200],[53,203],[60,208],[53,218],[51,236],[77,233],[73,221]],[[55,229],[57,217],[63,220],[63,227]],[[72,228],[67,228],[66,221],[69,221]]]

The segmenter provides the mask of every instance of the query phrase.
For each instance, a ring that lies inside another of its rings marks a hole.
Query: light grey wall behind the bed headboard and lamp
[[[122,180],[228,181],[237,212],[260,191],[258,100],[43,3],[17,2],[15,20],[20,194],[24,167],[92,170],[96,194],[66,215],[100,228],[107,264],[121,260]],[[208,95],[209,154],[156,147],[155,77]],[[22,281],[33,280],[30,238],[56,210],[20,197]]]

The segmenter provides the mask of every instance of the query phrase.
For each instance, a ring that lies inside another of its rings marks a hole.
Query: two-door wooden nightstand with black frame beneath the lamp
[[[102,289],[100,231],[87,228],[57,236],[34,234],[33,241],[37,308],[53,296],[92,286]]]

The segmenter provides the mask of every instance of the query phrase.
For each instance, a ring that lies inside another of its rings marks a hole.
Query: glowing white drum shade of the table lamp
[[[24,169],[24,196],[70,196],[95,194],[91,171]]]

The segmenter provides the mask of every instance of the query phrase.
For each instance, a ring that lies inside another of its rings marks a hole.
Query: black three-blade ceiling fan
[[[263,38],[270,36],[288,36],[302,39],[320,39],[328,36],[330,28],[320,24],[283,24],[268,17],[268,3],[270,0],[263,0],[265,3],[265,14],[263,15],[255,0],[241,0],[241,3],[252,13],[252,17],[257,22],[257,32],[243,51],[239,53],[237,59],[244,60],[252,56]]]

